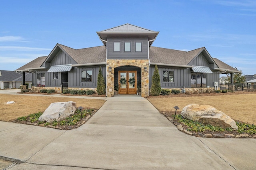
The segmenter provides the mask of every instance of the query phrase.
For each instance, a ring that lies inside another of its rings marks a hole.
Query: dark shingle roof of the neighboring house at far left
[[[22,81],[22,74],[18,74],[14,71],[7,71],[7,70],[0,70],[0,72],[1,72],[0,81],[5,81],[5,82]],[[26,73],[25,78],[26,78],[26,81],[32,81],[32,73]]]

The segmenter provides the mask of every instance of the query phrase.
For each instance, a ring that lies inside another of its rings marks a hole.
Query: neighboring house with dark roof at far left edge
[[[26,73],[25,83],[32,84],[32,73]],[[0,89],[20,88],[22,74],[14,71],[0,70]]]

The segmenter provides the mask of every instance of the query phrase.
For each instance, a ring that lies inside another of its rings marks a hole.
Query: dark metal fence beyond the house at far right
[[[256,91],[256,84],[248,83],[234,83],[234,84],[221,84],[220,90],[231,90],[231,91]]]

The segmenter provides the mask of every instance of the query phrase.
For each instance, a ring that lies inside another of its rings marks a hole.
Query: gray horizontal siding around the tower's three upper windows
[[[120,52],[114,52],[120,42]],[[124,52],[124,42],[131,42],[131,52]],[[135,42],[142,42],[142,51],[135,52]],[[108,38],[108,59],[148,59],[148,38]]]

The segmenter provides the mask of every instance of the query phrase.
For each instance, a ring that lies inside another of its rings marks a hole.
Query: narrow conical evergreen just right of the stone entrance
[[[155,65],[155,70],[152,76],[151,95],[159,96],[160,93],[161,93],[160,75],[158,72],[157,65]]]

